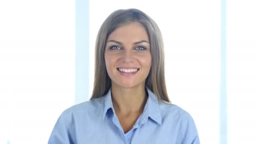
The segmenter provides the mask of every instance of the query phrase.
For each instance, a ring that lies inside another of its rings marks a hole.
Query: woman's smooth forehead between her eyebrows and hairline
[[[118,40],[118,41],[149,41],[147,31],[145,27],[139,22],[133,22],[130,24],[125,24],[121,27],[115,29],[108,37],[108,40]]]

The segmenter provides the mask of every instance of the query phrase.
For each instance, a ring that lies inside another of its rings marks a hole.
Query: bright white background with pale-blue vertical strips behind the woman
[[[168,94],[202,144],[255,144],[254,0],[1,0],[0,144],[46,144],[87,101],[104,19],[138,8],[160,27]]]

